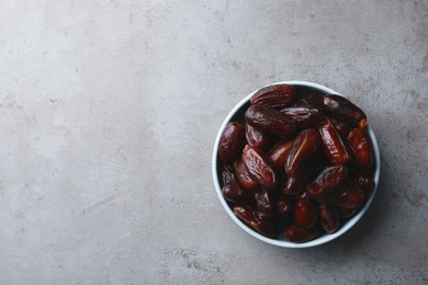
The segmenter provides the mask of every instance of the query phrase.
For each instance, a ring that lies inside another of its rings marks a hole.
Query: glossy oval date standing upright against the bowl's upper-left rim
[[[219,137],[218,155],[223,162],[233,162],[243,152],[246,144],[244,126],[229,122]]]

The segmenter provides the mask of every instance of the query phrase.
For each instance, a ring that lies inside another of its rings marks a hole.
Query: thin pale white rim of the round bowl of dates
[[[300,81],[300,80],[280,81],[280,82],[268,84],[266,87],[274,86],[274,84],[293,84],[293,86],[308,87],[308,88],[315,89],[317,91],[320,91],[323,93],[338,94],[338,95],[343,96],[342,94],[340,94],[339,92],[337,92],[337,91],[335,91],[335,90],[333,90],[330,88],[327,88],[327,87],[318,84],[318,83],[309,82],[309,81]],[[258,89],[258,90],[260,90],[260,89]],[[373,145],[373,152],[374,152],[373,155],[374,155],[374,163],[375,163],[374,173],[373,173],[373,180],[374,180],[375,186],[374,186],[374,190],[373,190],[372,194],[370,195],[370,197],[365,202],[364,206],[359,210],[359,213],[356,216],[353,216],[351,219],[349,219],[347,223],[341,225],[341,227],[339,228],[338,231],[336,231],[334,233],[325,233],[325,235],[323,235],[323,236],[320,236],[320,237],[318,237],[318,238],[316,238],[314,240],[311,240],[311,241],[296,243],[296,242],[291,242],[291,241],[286,240],[285,238],[283,240],[282,239],[279,240],[279,239],[267,238],[267,237],[258,233],[254,229],[251,229],[249,226],[244,224],[244,221],[241,221],[238,217],[235,216],[235,214],[233,213],[232,208],[227,204],[226,200],[223,197],[222,189],[221,189],[221,185],[219,185],[219,182],[218,182],[218,173],[217,173],[218,142],[219,142],[219,138],[221,138],[221,136],[222,136],[222,134],[224,132],[224,128],[226,127],[227,123],[232,119],[232,117],[235,115],[235,113],[240,107],[243,107],[246,103],[248,103],[250,98],[258,90],[255,90],[254,92],[251,92],[249,95],[244,98],[238,104],[236,104],[234,106],[234,109],[228,113],[228,115],[224,119],[224,122],[223,122],[223,124],[222,124],[222,126],[221,126],[221,128],[219,128],[219,130],[217,133],[216,139],[215,139],[214,149],[213,149],[213,157],[212,157],[212,174],[213,174],[213,180],[214,180],[214,186],[215,186],[217,196],[218,196],[223,207],[225,208],[225,210],[229,215],[229,217],[241,229],[247,231],[250,236],[252,236],[252,237],[255,237],[255,238],[257,238],[257,239],[259,239],[259,240],[261,240],[261,241],[263,241],[266,243],[272,244],[272,246],[278,246],[278,247],[282,247],[282,248],[312,248],[312,247],[320,246],[320,244],[324,244],[324,243],[327,243],[327,242],[329,242],[331,240],[337,239],[338,237],[340,237],[345,232],[347,232],[350,228],[352,228],[362,218],[362,216],[367,213],[368,208],[370,207],[370,205],[371,205],[371,203],[372,203],[372,201],[373,201],[373,198],[374,198],[374,196],[375,196],[375,194],[378,192],[379,179],[380,179],[380,173],[381,173],[381,156],[380,156],[378,140],[376,140],[376,137],[374,135],[373,129],[371,128],[370,124],[367,126],[367,130],[368,130],[368,133],[370,135],[370,138],[372,140],[372,145]]]

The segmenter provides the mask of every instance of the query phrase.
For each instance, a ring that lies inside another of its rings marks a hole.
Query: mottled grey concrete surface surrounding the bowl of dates
[[[1,284],[428,283],[428,1],[4,0]],[[261,243],[211,156],[229,110],[308,80],[367,111],[372,207],[337,241]]]

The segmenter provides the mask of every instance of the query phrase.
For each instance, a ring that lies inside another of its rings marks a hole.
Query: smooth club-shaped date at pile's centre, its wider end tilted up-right
[[[295,176],[302,169],[302,163],[313,155],[319,145],[319,135],[313,128],[299,133],[291,146],[285,160],[285,173]]]

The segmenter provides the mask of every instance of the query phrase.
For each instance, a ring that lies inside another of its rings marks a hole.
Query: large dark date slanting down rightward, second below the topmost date
[[[251,126],[277,136],[288,137],[295,133],[295,122],[281,112],[262,105],[251,105],[245,112],[245,118]]]

